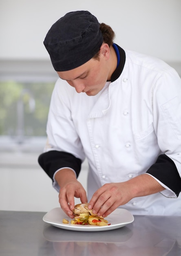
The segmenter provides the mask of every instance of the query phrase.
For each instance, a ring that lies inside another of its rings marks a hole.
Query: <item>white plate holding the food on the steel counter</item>
[[[58,207],[46,213],[43,217],[43,221],[61,229],[75,231],[105,231],[124,227],[134,220],[133,215],[128,210],[120,208],[116,209],[105,218],[108,223],[110,223],[109,226],[99,227],[93,225],[64,224],[62,223],[63,218],[66,218],[69,222],[71,221],[71,218],[68,218],[64,211]]]

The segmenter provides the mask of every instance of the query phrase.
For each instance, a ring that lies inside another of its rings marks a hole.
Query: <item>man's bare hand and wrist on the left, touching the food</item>
[[[62,169],[55,174],[55,180],[60,186],[59,203],[62,210],[70,218],[74,218],[74,197],[80,198],[82,203],[87,202],[87,195],[82,184],[77,181],[75,173],[68,168]]]

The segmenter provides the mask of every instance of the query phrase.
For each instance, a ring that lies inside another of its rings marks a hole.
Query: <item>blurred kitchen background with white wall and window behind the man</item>
[[[121,47],[161,58],[181,76],[180,0],[1,0],[0,210],[59,207],[37,161],[57,80],[43,40],[65,13],[83,9],[110,25]],[[86,177],[84,162],[79,180],[85,189]]]

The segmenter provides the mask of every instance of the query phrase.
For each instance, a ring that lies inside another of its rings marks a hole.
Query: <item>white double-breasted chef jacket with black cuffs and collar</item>
[[[58,79],[39,163],[54,179],[88,160],[88,200],[105,183],[146,173],[165,190],[121,206],[133,214],[181,215],[181,79],[165,62],[117,46],[121,63],[95,96]],[[121,71],[120,71],[121,70]]]

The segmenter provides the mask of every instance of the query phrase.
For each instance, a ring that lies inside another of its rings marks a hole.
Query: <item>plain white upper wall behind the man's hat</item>
[[[48,29],[66,12],[80,9],[110,25],[121,47],[181,62],[180,0],[4,0],[0,59],[49,59],[43,45]]]

